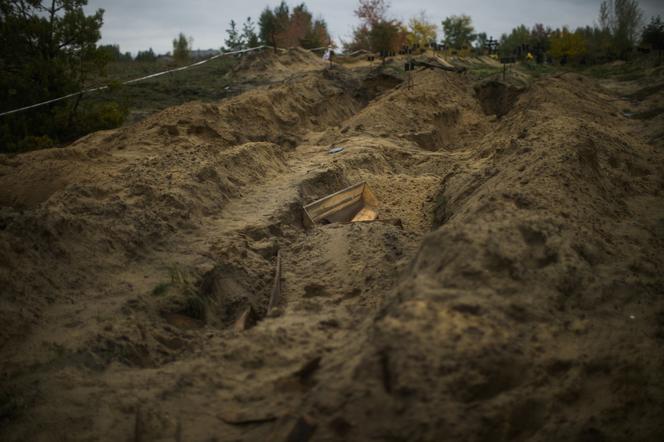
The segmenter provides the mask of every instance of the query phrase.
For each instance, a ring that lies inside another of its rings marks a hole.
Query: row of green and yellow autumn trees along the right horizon
[[[360,24],[354,28],[347,51],[369,50],[395,53],[404,46],[433,47],[452,54],[492,54],[532,58],[538,62],[600,63],[627,59],[636,52],[661,54],[664,25],[652,17],[644,26],[643,11],[637,0],[607,0],[600,5],[597,24],[570,30],[552,29],[543,24],[532,28],[519,25],[494,40],[485,32],[475,32],[471,17],[452,15],[440,24],[438,40],[435,23],[426,14],[407,23],[391,18],[385,0],[359,0],[355,15]]]

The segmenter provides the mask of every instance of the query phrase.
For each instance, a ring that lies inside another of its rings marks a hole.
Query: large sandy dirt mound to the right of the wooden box
[[[360,360],[331,375],[344,398],[335,419],[353,440],[664,430],[650,405],[664,401],[664,361],[650,357],[662,343],[664,237],[642,212],[661,197],[661,153],[615,129],[606,103],[565,103],[551,117],[554,103],[534,99],[590,94],[583,85],[528,94],[446,175],[440,227],[374,317]],[[605,124],[592,123],[602,112]]]

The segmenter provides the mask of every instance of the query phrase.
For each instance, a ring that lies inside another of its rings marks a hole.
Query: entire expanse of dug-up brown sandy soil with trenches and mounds
[[[661,88],[266,57],[0,157],[0,439],[664,434]],[[378,221],[303,227],[360,181]]]

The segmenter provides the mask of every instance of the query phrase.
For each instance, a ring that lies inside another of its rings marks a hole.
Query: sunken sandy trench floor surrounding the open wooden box
[[[200,307],[177,305],[162,316],[174,327],[207,335],[193,353],[159,368],[167,398],[143,402],[135,417],[141,427],[130,432],[148,438],[182,434],[183,440],[210,434],[220,440],[286,440],[312,431],[314,424],[299,409],[311,389],[320,388],[321,361],[325,372],[334,372],[358,350],[422,237],[440,221],[442,176],[463,156],[448,154],[442,144],[436,148],[441,125],[428,121],[425,130],[436,135],[426,138],[426,149],[410,137],[384,139],[363,129],[348,134],[344,127],[362,109],[335,127],[307,133],[286,154],[287,173],[230,200],[218,217],[205,221],[197,241],[178,240],[212,260],[193,284]],[[344,151],[329,154],[332,146]],[[361,181],[379,201],[379,220],[304,228],[302,205]],[[280,302],[266,317],[277,251]],[[114,400],[126,401],[120,393],[126,373],[108,382],[118,392]]]

